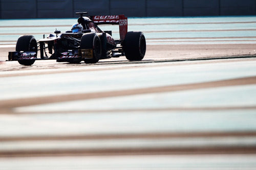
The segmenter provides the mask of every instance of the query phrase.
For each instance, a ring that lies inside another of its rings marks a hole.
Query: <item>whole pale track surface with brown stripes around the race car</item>
[[[255,19],[131,18],[142,61],[32,66],[17,37],[74,19],[1,20],[0,169],[255,169]]]

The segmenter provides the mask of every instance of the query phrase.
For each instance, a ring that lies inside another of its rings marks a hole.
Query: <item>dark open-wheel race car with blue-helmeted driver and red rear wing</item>
[[[35,40],[32,35],[22,35],[16,43],[16,51],[9,52],[9,61],[32,65],[35,60],[51,60],[69,63],[97,63],[100,59],[125,56],[127,60],[142,60],[146,52],[146,40],[142,32],[127,32],[124,15],[83,16],[70,31],[55,31],[45,38]],[[112,31],[102,31],[99,25],[119,25],[120,39],[112,37]],[[40,58],[38,58],[38,51]]]

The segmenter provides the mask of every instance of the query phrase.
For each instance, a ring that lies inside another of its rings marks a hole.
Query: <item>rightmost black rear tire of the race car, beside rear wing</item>
[[[142,32],[127,32],[123,43],[127,60],[142,60],[146,53],[146,39]]]

